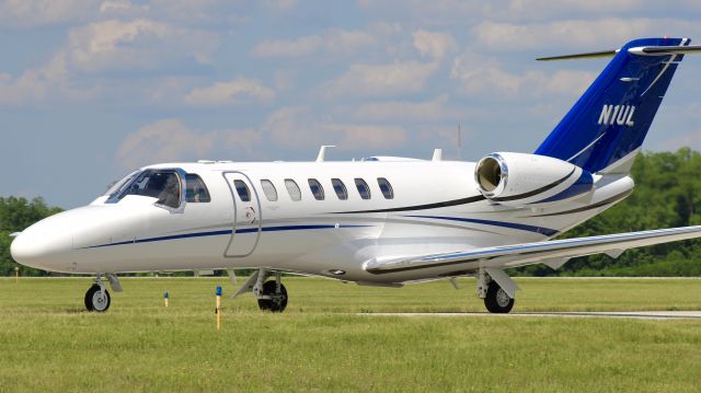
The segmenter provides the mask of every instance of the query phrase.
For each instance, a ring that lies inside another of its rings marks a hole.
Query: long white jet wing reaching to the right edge
[[[486,268],[506,268],[544,263],[558,268],[575,256],[606,253],[618,257],[628,248],[696,238],[701,238],[701,226],[513,244],[389,261],[374,259],[366,264],[365,269],[368,273],[381,275],[448,266],[459,267],[462,264],[470,263],[479,263],[480,267]]]

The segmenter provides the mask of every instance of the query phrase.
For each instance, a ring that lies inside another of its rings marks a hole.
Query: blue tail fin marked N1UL
[[[643,38],[625,44],[536,154],[568,161],[590,173],[629,172],[683,58],[678,53],[637,49],[687,46],[689,42]]]

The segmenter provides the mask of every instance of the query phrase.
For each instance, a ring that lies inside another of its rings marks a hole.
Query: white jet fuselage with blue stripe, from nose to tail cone
[[[265,267],[367,284],[402,282],[473,267],[377,275],[364,264],[551,239],[621,200],[633,187],[625,175],[596,175],[594,190],[584,198],[509,207],[482,197],[474,165],[409,159],[152,165],[142,170],[198,175],[210,201],[169,209],[153,197],[127,195],[114,201],[103,196],[30,227],[15,239],[12,253],[22,264],[64,273]],[[322,200],[312,194],[310,178],[322,185]],[[343,182],[347,199],[338,198],[332,178]],[[368,184],[368,199],[360,197],[356,178]],[[391,184],[391,199],[378,178]],[[275,186],[277,200],[268,200],[262,180]],[[300,200],[292,200],[286,180],[298,185]],[[242,200],[234,181],[249,187],[249,201]]]

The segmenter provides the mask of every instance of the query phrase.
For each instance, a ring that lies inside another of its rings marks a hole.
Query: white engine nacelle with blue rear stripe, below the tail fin
[[[478,189],[487,199],[509,206],[556,205],[594,188],[591,174],[552,157],[492,153],[474,170]]]

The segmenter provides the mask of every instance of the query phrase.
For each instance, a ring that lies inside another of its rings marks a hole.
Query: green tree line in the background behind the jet
[[[562,238],[701,224],[701,153],[645,152],[632,170],[635,190],[622,203],[572,229]],[[10,255],[10,234],[60,212],[42,198],[0,197],[0,275],[43,276],[46,271],[18,265]],[[532,276],[701,276],[701,240],[633,248],[613,259],[593,255],[570,261],[558,270],[544,265],[517,269]]]

